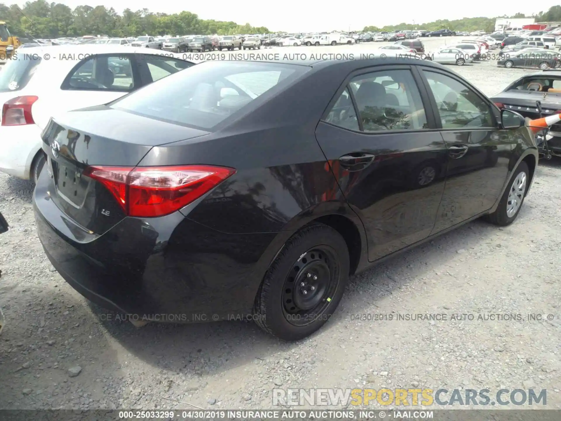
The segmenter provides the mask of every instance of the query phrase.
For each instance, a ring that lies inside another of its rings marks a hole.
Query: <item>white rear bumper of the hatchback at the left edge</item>
[[[29,180],[31,162],[41,145],[41,129],[35,124],[0,126],[0,171]]]

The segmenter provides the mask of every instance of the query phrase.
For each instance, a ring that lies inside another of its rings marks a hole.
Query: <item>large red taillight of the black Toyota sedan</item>
[[[207,165],[173,167],[90,166],[84,175],[103,184],[127,216],[164,216],[199,199],[236,172]]]

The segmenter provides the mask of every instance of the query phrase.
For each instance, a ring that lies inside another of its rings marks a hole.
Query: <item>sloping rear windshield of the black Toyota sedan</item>
[[[206,62],[164,77],[111,106],[158,120],[211,129],[260,95],[286,85],[307,70],[306,66],[277,63]]]

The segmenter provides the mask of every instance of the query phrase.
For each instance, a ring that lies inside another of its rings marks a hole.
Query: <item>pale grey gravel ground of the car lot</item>
[[[454,70],[486,94],[527,72]],[[0,408],[258,409],[272,407],[274,387],[383,386],[545,388],[547,407],[561,408],[560,176],[561,160],[540,162],[511,226],[471,222],[353,277],[337,315],[287,344],[250,322],[135,328],[90,304],[43,254],[32,185],[0,174],[11,224],[0,236]],[[353,320],[363,313],[448,320]],[[498,313],[523,320],[478,320]]]

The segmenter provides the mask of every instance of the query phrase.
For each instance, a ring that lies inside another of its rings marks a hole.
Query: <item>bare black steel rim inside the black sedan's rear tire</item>
[[[316,246],[302,255],[288,273],[283,286],[283,313],[294,326],[306,326],[321,317],[339,284],[335,250]]]

